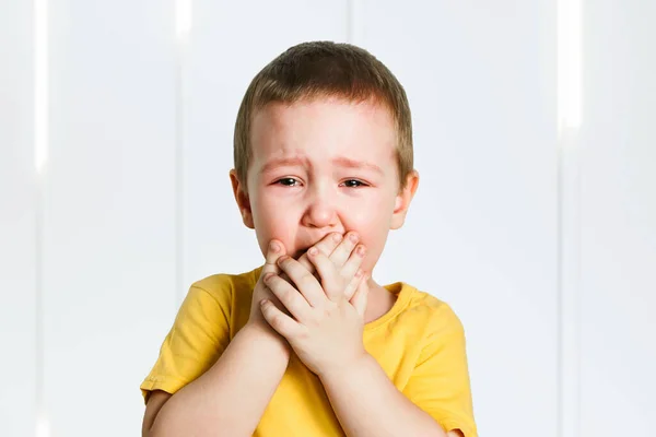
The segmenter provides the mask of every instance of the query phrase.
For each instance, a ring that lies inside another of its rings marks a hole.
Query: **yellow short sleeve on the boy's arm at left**
[[[173,328],[164,339],[160,356],[141,383],[143,399],[153,390],[175,393],[207,371],[227,347],[233,290],[219,281],[214,293],[192,285]]]

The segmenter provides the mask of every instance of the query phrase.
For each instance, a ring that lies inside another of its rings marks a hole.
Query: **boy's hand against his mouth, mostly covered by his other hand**
[[[360,284],[360,281],[355,279],[356,271],[347,271],[348,269],[342,270],[356,245],[356,240],[354,241],[351,238],[343,238],[343,235],[339,233],[330,233],[314,246],[317,249],[319,249],[321,253],[330,258],[330,260],[335,263],[337,269],[342,272],[342,275],[345,279],[351,280],[348,290],[344,291],[347,299],[350,299],[352,297],[355,290],[358,290],[358,285]],[[263,299],[269,299],[278,308],[285,310],[284,306],[278,300],[278,298],[273,295],[273,293],[271,293],[271,291],[265,285],[262,281],[267,273],[281,273],[280,268],[278,267],[278,258],[285,255],[285,252],[286,250],[282,243],[278,240],[271,240],[269,243],[265,267],[262,268],[260,277],[258,279],[255,285],[255,290],[253,291],[253,302],[250,303],[250,316],[248,319],[248,323],[258,324],[260,327],[269,327],[269,323],[267,323],[260,310],[260,302]],[[314,264],[309,261],[307,253],[303,253],[298,258],[298,262],[303,264],[308,272],[311,272],[315,276],[317,275],[316,269]],[[291,282],[290,279],[286,277],[286,274],[283,273],[282,277]]]

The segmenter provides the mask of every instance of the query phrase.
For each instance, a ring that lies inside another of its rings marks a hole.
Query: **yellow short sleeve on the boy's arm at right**
[[[446,304],[432,327],[403,394],[446,430],[477,437],[467,365],[465,331]]]

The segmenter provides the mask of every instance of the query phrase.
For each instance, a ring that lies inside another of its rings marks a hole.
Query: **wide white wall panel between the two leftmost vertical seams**
[[[131,436],[175,312],[173,1],[50,1],[46,400],[55,437]]]

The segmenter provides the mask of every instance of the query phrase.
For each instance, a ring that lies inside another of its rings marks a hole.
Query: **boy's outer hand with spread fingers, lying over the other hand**
[[[345,370],[366,355],[362,332],[368,285],[367,275],[353,269],[360,274],[360,285],[353,297],[347,299],[344,290],[351,279],[343,277],[326,255],[314,249],[307,255],[321,283],[291,257],[281,257],[279,267],[297,288],[278,274],[270,273],[265,277],[265,284],[293,318],[268,300],[262,302],[261,308],[267,322],[320,377],[327,371]],[[361,263],[363,257],[364,251],[356,248],[347,263]]]

